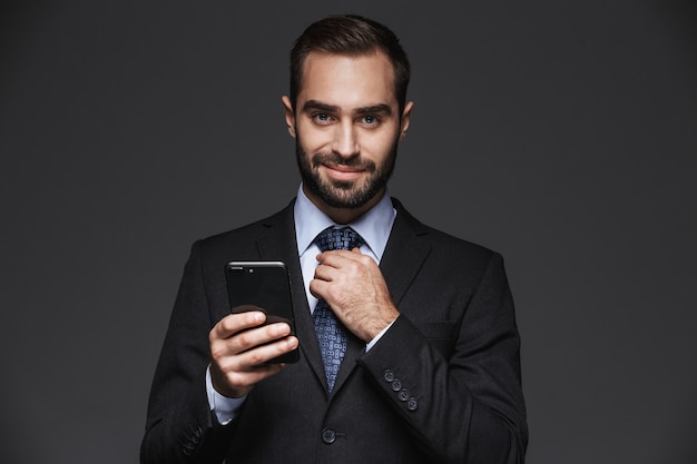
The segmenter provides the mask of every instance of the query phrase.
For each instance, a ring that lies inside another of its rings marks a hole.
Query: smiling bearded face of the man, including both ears
[[[283,101],[306,195],[331,208],[377,203],[412,108],[399,112],[386,56],[310,53],[295,108]]]

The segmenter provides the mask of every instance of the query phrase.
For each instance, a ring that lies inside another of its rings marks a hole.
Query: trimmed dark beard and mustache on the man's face
[[[397,140],[380,165],[360,156],[346,159],[334,151],[318,151],[311,159],[303,149],[300,137],[296,137],[295,156],[303,184],[310,191],[327,206],[353,209],[367,204],[387,185],[396,161],[396,146]],[[318,172],[318,167],[323,164],[359,168],[369,172],[369,177],[363,181],[323,179]]]

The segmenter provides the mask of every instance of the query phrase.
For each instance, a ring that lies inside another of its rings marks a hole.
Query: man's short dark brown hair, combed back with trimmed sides
[[[394,69],[394,96],[400,112],[404,109],[411,75],[409,58],[400,39],[386,26],[356,14],[331,16],[310,24],[291,50],[291,102],[294,108],[303,85],[303,65],[313,51],[351,56],[382,51]]]

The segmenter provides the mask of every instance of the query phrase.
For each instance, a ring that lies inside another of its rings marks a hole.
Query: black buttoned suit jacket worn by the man
[[[303,287],[292,204],[192,247],[155,373],[141,463],[522,463],[520,339],[499,254],[397,209],[381,270],[400,310],[365,353],[350,337],[332,394]],[[208,332],[229,314],[224,266],[282,260],[300,362],[261,382],[239,415],[209,411]]]

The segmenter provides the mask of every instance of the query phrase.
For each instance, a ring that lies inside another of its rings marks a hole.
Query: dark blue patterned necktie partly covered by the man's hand
[[[344,227],[343,229],[330,227],[317,235],[315,244],[322,251],[328,249],[353,249],[363,245],[363,239],[351,227]],[[338,367],[346,353],[346,329],[324,299],[317,302],[312,317],[315,322],[315,330],[317,332],[317,340],[320,342],[322,361],[324,362],[324,373],[326,374],[326,383],[331,392],[334,388]]]

